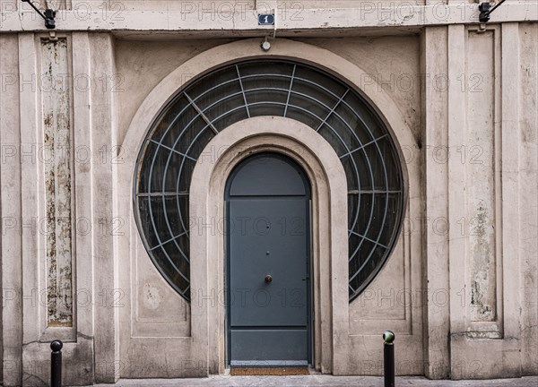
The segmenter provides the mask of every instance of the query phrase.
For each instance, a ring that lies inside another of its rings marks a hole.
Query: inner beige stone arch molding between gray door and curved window
[[[293,133],[291,135],[291,133]],[[258,116],[239,121],[217,134],[196,164],[189,205],[191,228],[191,314],[194,345],[200,356],[224,371],[225,305],[209,305],[206,297],[217,289],[224,290],[224,235],[211,228],[209,219],[225,218],[224,190],[231,170],[245,157],[271,150],[294,159],[307,172],[312,186],[312,252],[314,267],[314,326],[317,331],[315,358],[317,366],[332,369],[331,354],[342,351],[343,343],[333,347],[337,332],[345,332],[338,323],[347,315],[347,225],[341,215],[347,211],[347,181],[342,163],[333,147],[308,125],[280,116]],[[333,321],[333,324],[321,322]],[[197,332],[199,331],[199,332]],[[204,335],[204,331],[216,332]],[[325,348],[322,348],[324,343]],[[217,369],[213,370],[217,372]]]

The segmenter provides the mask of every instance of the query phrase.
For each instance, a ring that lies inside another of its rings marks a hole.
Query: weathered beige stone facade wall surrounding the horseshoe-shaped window
[[[256,30],[250,16],[238,16],[237,30],[228,16],[204,24],[198,11],[186,13],[193,4],[175,3],[109,3],[107,13],[93,10],[100,20],[91,24],[74,18],[82,2],[72,0],[50,34],[30,10],[19,21],[20,3],[2,2],[4,385],[46,385],[56,338],[65,341],[66,384],[222,370],[220,320],[178,297],[143,249],[131,208],[134,161],[146,121],[175,90],[224,57],[265,55],[259,43],[273,29]],[[202,3],[205,22],[227,6]],[[253,14],[262,6],[244,3]],[[293,9],[284,3],[277,6]],[[475,16],[440,13],[437,22],[388,25],[364,4],[360,11],[357,2],[335,3],[364,19],[303,2],[299,21],[278,25],[277,37],[293,37],[270,40],[266,55],[317,61],[398,122],[391,130],[408,197],[403,231],[377,279],[349,309],[326,312],[320,334],[330,343],[317,349],[317,366],[381,374],[380,331],[393,329],[398,374],[538,374],[535,4],[508,1],[501,22],[481,28]],[[466,9],[457,4],[447,9]],[[125,11],[113,13],[117,6]],[[143,10],[155,13],[145,20]],[[184,30],[157,20],[181,21],[181,11]],[[241,42],[238,34],[257,38]],[[156,90],[166,95],[155,98]],[[330,309],[333,301],[319,302]],[[217,332],[201,337],[201,327]],[[346,344],[332,348],[339,340]]]

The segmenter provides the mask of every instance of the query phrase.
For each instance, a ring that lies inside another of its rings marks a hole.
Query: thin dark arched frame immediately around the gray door
[[[313,335],[313,323],[314,323],[314,303],[313,303],[313,273],[314,273],[314,265],[313,265],[313,259],[312,259],[312,184],[310,182],[310,179],[308,178],[307,171],[304,170],[300,166],[300,164],[295,160],[292,159],[290,156],[286,155],[285,153],[282,153],[281,151],[275,151],[275,150],[259,150],[254,153],[248,154],[242,159],[239,159],[238,162],[234,165],[234,168],[230,171],[230,174],[226,178],[226,185],[224,188],[224,219],[225,219],[225,225],[224,225],[224,236],[225,236],[225,245],[224,245],[224,256],[225,256],[225,265],[224,265],[224,291],[226,294],[226,315],[225,315],[225,329],[226,329],[226,357],[225,357],[225,366],[226,368],[230,368],[230,358],[231,358],[231,338],[230,338],[230,305],[231,305],[231,299],[230,299],[230,232],[229,226],[230,226],[230,201],[228,200],[229,193],[230,193],[230,185],[235,176],[237,176],[239,172],[239,167],[247,161],[247,159],[252,158],[260,158],[264,155],[276,155],[278,158],[285,159],[286,162],[288,162],[293,168],[297,169],[299,171],[300,178],[305,183],[305,188],[307,188],[307,201],[308,201],[308,212],[307,212],[307,219],[306,219],[306,238],[307,238],[307,366],[313,366],[315,364],[314,361],[314,335]],[[284,365],[282,366],[289,366],[286,365],[284,362]]]

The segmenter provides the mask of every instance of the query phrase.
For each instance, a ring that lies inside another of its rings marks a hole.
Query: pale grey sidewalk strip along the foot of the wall
[[[117,384],[97,384],[100,387],[383,387],[383,377],[332,376],[225,376],[214,375],[200,379],[122,379]],[[396,387],[538,387],[538,376],[517,379],[433,381],[421,376],[396,377]]]

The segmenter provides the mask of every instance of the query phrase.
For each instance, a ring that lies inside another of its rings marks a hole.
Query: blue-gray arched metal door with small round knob
[[[230,175],[230,366],[310,363],[310,189],[291,159],[260,153]]]

